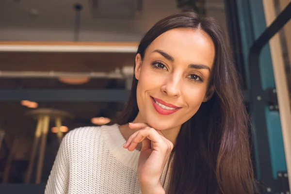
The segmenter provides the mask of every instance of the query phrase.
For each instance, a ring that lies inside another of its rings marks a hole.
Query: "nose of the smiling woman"
[[[169,75],[165,84],[162,85],[162,93],[170,97],[179,97],[181,94],[181,76],[176,74]]]

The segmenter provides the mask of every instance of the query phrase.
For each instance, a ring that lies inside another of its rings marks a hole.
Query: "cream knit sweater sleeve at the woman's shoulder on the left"
[[[70,133],[66,134],[49,175],[45,194],[67,194],[70,165]]]

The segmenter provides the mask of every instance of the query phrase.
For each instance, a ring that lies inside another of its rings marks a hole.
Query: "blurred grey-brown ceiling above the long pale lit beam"
[[[96,0],[0,0],[0,40],[72,41],[76,3],[81,3],[83,7],[80,41],[138,42],[158,20],[180,12],[177,0],[142,0],[141,11],[134,17],[97,17],[92,1]],[[124,10],[124,4],[130,7],[130,2],[135,0],[122,0],[127,3],[120,3],[121,0],[98,0],[99,4],[107,1],[112,6],[104,6],[104,9],[113,13],[114,10]],[[206,8],[207,15],[217,18],[226,29],[223,0],[206,0]]]

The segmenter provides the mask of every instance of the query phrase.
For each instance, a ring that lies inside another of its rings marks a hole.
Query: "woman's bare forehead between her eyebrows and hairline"
[[[210,68],[215,57],[215,47],[210,36],[194,29],[173,29],[162,33],[146,49],[146,55],[155,49],[166,52],[175,61],[209,65]]]

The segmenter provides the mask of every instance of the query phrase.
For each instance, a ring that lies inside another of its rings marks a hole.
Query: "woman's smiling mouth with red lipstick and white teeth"
[[[178,110],[180,110],[180,107],[177,107],[170,103],[166,103],[159,98],[151,97],[151,101],[155,110],[162,115],[169,115],[172,113],[176,113]]]

